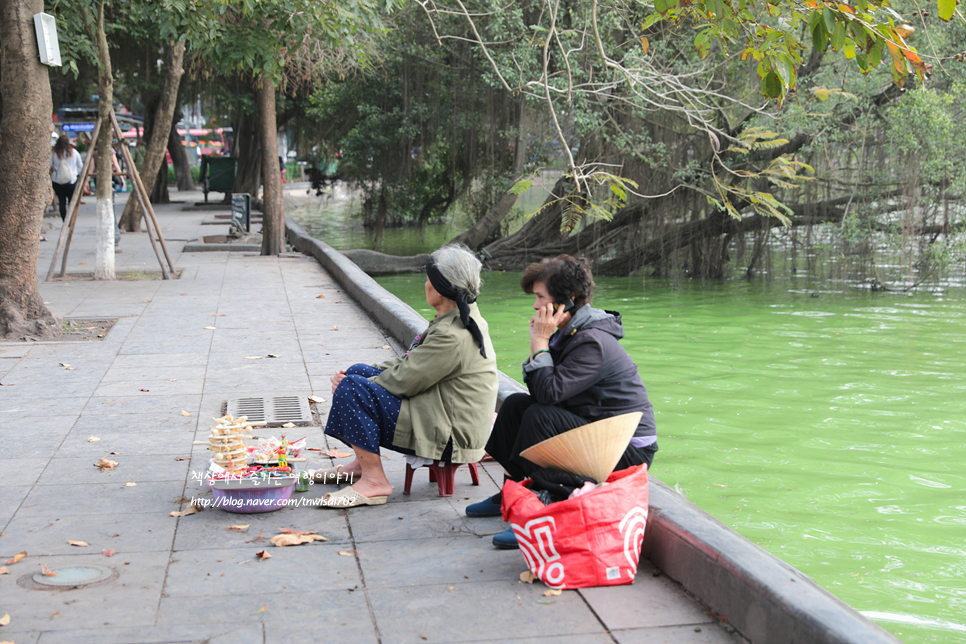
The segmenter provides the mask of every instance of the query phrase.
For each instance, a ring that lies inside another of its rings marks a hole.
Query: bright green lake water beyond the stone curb
[[[429,319],[424,279],[378,281]],[[484,279],[519,379],[532,298]],[[654,404],[652,471],[904,642],[966,644],[966,291],[806,280],[597,280]]]

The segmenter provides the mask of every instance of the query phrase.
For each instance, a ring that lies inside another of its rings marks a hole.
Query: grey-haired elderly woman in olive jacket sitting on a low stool
[[[496,353],[476,298],[480,262],[445,246],[426,265],[429,328],[406,355],[375,366],[356,364],[332,377],[325,433],[349,445],[355,459],[315,472],[315,481],[355,481],[326,494],[324,507],[380,505],[392,493],[379,448],[456,463],[483,457],[496,408]]]

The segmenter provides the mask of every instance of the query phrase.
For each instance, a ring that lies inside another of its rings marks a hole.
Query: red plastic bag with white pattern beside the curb
[[[551,588],[634,581],[647,524],[647,466],[614,472],[575,499],[544,505],[523,483],[503,486],[503,520],[530,572]]]

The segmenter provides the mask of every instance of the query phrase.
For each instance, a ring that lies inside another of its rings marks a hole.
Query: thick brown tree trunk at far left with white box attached
[[[0,3],[0,335],[8,340],[48,336],[57,325],[37,288],[53,112],[33,26],[43,10],[42,0]]]

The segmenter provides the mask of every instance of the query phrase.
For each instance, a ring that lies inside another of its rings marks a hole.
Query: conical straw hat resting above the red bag
[[[541,467],[607,480],[634,436],[643,414],[639,411],[612,416],[558,434],[520,452]]]

